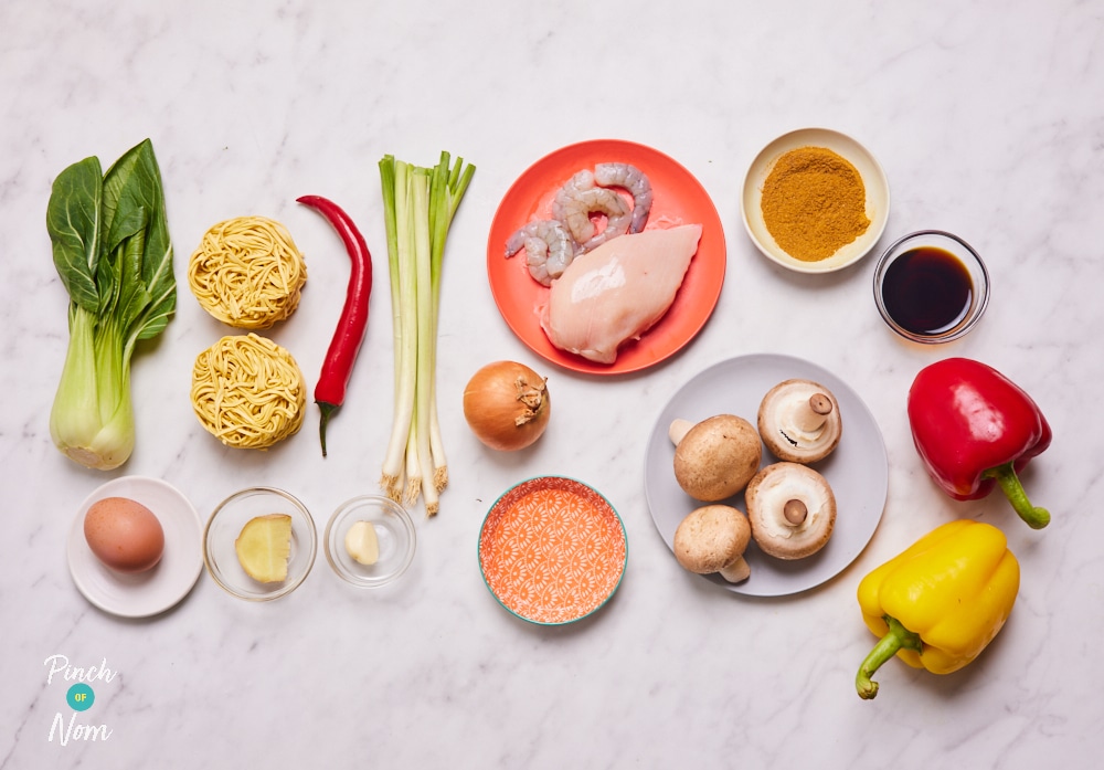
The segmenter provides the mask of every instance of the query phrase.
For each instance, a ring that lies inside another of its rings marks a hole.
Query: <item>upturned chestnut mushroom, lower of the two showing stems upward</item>
[[[807,465],[767,465],[744,492],[752,537],[764,553],[804,559],[828,542],[836,525],[836,495]]]

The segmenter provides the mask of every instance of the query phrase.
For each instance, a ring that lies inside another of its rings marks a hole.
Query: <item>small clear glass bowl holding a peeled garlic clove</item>
[[[326,559],[338,577],[357,588],[380,588],[397,580],[414,560],[414,520],[381,495],[342,503],[326,525]]]

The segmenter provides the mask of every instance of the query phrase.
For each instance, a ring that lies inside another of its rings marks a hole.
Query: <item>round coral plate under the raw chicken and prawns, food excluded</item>
[[[576,171],[607,161],[631,164],[651,182],[651,215],[646,230],[693,223],[701,224],[702,230],[698,252],[667,314],[639,340],[623,345],[616,361],[596,363],[549,341],[539,309],[548,300],[549,289],[529,275],[523,253],[506,257],[506,241],[531,220],[550,217],[556,191]],[[701,183],[672,158],[617,139],[570,145],[530,166],[502,198],[487,239],[487,275],[507,325],[537,355],[588,375],[639,371],[681,350],[712,315],[724,283],[725,262],[721,219]]]

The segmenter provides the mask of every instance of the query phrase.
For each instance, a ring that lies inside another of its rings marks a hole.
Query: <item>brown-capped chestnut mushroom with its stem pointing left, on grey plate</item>
[[[676,420],[668,430],[675,442],[675,478],[683,492],[716,503],[747,486],[758,470],[763,444],[755,426],[734,414],[716,414],[693,424]]]

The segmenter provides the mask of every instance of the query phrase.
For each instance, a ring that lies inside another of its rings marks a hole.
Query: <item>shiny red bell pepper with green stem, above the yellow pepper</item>
[[[968,358],[932,363],[909,391],[909,423],[928,474],[948,495],[975,500],[999,484],[1030,527],[1050,523],[1016,475],[1050,446],[1050,425],[1007,377]]]

